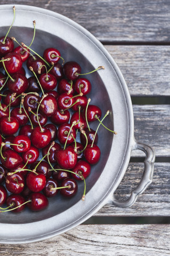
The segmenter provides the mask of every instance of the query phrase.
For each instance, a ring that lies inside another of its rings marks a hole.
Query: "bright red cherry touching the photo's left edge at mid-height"
[[[13,135],[19,129],[19,122],[16,117],[11,116],[10,121],[7,116],[4,116],[0,119],[0,130],[1,133],[5,135]]]

